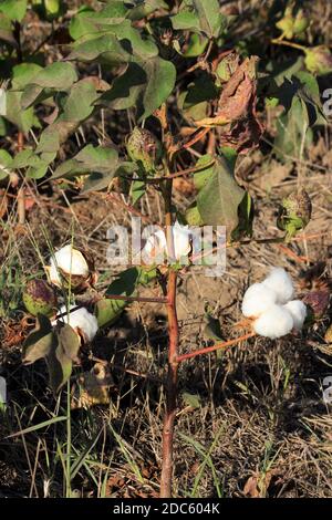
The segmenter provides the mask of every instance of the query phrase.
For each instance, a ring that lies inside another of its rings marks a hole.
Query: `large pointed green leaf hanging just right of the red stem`
[[[238,226],[238,207],[245,190],[238,186],[234,171],[224,157],[218,157],[214,171],[197,196],[197,207],[209,226],[226,226],[227,232]]]

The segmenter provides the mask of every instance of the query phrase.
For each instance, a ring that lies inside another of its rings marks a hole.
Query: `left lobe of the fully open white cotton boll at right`
[[[253,283],[247,289],[242,301],[242,314],[257,318],[276,303],[277,294],[263,283]]]

